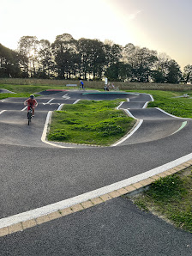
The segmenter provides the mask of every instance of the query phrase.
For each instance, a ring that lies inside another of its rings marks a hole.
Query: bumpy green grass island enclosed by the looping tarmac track
[[[47,138],[64,143],[108,146],[123,137],[135,119],[116,110],[122,100],[80,101],[55,111]]]

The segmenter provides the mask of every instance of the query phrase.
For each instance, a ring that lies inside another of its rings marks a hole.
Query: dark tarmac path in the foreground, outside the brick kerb
[[[0,238],[1,255],[191,256],[192,235],[114,198]]]

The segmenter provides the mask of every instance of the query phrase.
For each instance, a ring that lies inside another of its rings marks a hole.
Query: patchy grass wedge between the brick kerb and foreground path
[[[141,210],[151,210],[176,227],[192,233],[192,171],[153,182],[147,192],[132,198]]]

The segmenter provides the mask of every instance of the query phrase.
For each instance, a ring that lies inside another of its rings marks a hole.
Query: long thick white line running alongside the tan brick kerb
[[[145,180],[155,174],[160,174],[162,172],[165,172],[168,169],[175,168],[176,166],[182,164],[183,162],[189,161],[191,158],[192,158],[192,153],[190,153],[189,155],[184,155],[172,162],[165,163],[164,165],[162,165],[158,168],[153,168],[144,174],[135,175],[134,177],[128,178],[126,180],[121,180],[121,181],[113,183],[109,186],[104,186],[99,189],[93,190],[91,192],[83,193],[74,198],[68,198],[63,201],[57,202],[55,204],[45,205],[43,207],[39,207],[34,210],[28,210],[26,212],[22,212],[20,214],[14,215],[14,216],[8,216],[5,218],[2,218],[0,220],[0,229],[2,229],[4,227],[9,227],[10,225],[13,225],[18,222],[25,222],[27,220],[31,220],[31,219],[37,218],[39,216],[45,216],[45,215],[47,215],[51,212],[57,211],[57,210],[63,210],[63,209],[68,208],[74,204],[80,204],[80,203],[85,202],[92,198],[97,198],[106,193],[113,192],[117,189],[123,188],[125,186],[129,186],[129,185],[139,182],[141,180]]]

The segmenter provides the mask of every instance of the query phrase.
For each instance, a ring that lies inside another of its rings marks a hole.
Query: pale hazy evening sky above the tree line
[[[166,53],[192,64],[192,0],[0,0],[0,43],[22,36],[54,42],[59,34],[112,40]]]

